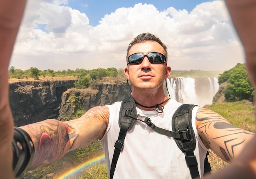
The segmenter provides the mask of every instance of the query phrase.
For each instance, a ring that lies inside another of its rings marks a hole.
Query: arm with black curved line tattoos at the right
[[[232,126],[224,117],[206,108],[198,110],[196,125],[204,145],[227,162],[238,156],[254,135]]]

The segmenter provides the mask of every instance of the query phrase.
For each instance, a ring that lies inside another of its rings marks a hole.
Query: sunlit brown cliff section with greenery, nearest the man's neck
[[[58,120],[66,121],[76,115],[77,110],[83,112],[95,106],[105,106],[113,104],[116,101],[122,101],[124,97],[130,94],[126,82],[119,84],[97,84],[91,88],[69,89],[62,95],[60,115]]]

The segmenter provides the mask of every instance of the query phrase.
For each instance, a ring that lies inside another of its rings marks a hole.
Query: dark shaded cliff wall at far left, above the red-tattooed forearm
[[[23,81],[9,84],[9,99],[15,126],[57,119],[61,96],[76,80]]]

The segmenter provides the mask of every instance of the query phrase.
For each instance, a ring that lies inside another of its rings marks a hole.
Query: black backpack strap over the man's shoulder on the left
[[[124,99],[121,104],[119,112],[119,126],[120,132],[118,139],[115,143],[114,155],[112,158],[111,168],[110,168],[110,179],[113,178],[115,168],[117,165],[117,160],[119,158],[120,152],[124,147],[124,138],[126,136],[127,130],[130,130],[134,124],[135,119],[137,119],[136,104],[132,96],[129,95]]]

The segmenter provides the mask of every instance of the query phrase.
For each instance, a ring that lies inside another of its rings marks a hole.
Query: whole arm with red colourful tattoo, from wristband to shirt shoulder
[[[22,126],[35,146],[35,155],[29,170],[52,164],[67,152],[101,139],[108,126],[108,119],[108,107],[98,106],[88,110],[79,119],[66,122],[47,119]]]

